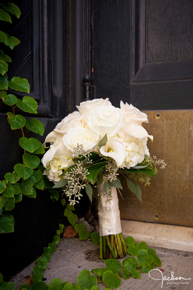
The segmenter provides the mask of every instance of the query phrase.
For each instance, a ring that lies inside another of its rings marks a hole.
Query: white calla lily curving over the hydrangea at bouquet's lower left
[[[60,158],[64,157],[68,159],[71,157],[70,150],[66,148],[64,143],[60,143],[58,146],[54,147],[51,146],[50,149],[44,154],[41,162],[43,163],[44,167],[47,168],[47,163],[51,161],[53,158]]]

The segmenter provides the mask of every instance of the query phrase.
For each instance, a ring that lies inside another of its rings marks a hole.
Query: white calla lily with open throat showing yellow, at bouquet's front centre
[[[100,148],[100,152],[104,156],[111,157],[119,167],[125,160],[126,150],[125,145],[119,139],[109,139],[104,146]]]

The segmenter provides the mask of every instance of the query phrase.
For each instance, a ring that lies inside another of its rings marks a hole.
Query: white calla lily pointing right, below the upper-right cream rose
[[[121,131],[123,131],[125,136],[130,135],[135,138],[149,137],[153,141],[153,136],[148,135],[148,132],[140,125],[123,123]]]

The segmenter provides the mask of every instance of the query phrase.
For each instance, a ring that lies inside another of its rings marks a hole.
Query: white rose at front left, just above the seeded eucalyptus
[[[64,145],[68,149],[73,149],[77,144],[82,144],[84,150],[90,150],[96,146],[98,140],[99,135],[85,128],[72,128],[63,137]]]

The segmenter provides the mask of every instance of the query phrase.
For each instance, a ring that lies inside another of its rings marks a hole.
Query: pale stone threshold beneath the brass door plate
[[[193,227],[166,225],[135,220],[121,220],[124,237],[132,236],[136,243],[148,246],[193,252]]]

